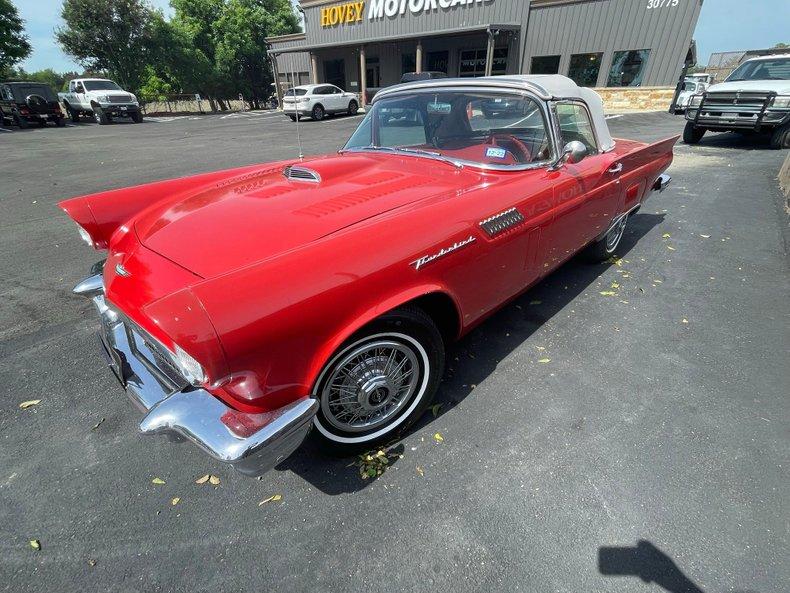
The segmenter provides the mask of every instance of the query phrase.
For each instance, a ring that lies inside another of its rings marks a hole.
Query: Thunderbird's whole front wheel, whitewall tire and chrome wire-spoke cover
[[[404,307],[354,334],[319,375],[313,432],[334,453],[389,441],[433,400],[444,371],[444,343],[421,309]]]

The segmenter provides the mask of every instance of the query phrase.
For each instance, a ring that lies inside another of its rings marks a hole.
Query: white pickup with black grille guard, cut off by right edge
[[[724,82],[691,97],[683,141],[714,132],[771,133],[771,147],[790,148],[790,54],[745,61]]]

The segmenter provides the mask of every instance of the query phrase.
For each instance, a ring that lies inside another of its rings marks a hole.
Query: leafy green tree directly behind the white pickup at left
[[[104,70],[138,90],[150,55],[156,13],[144,0],[64,0],[65,22],[55,32],[68,55],[90,70]]]

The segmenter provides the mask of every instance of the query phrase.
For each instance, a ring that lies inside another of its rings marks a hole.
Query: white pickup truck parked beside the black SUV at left
[[[136,124],[143,121],[137,97],[106,78],[75,78],[69,81],[69,92],[58,97],[75,123],[83,114],[101,125],[114,117],[129,117]]]

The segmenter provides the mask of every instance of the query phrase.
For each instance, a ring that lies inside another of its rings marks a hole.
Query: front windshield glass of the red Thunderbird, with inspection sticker
[[[504,167],[551,156],[538,101],[486,91],[418,91],[376,101],[344,150],[400,150]]]

